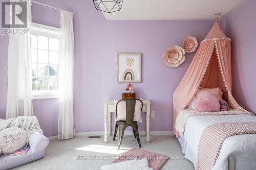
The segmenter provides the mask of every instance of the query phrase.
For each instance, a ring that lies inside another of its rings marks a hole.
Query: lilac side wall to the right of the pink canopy
[[[223,29],[232,39],[233,95],[245,109],[256,113],[256,1],[246,1],[223,19]]]

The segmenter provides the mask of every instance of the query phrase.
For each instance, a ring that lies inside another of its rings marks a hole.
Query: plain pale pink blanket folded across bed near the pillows
[[[219,111],[219,112],[199,112],[196,109],[186,109],[186,110],[181,111],[176,118],[175,129],[176,129],[177,133],[175,135],[176,135],[176,137],[179,137],[180,134],[183,135],[183,133],[185,131],[187,119],[190,116],[194,116],[194,115],[227,115],[227,114],[234,114],[234,115],[235,114],[251,114],[251,115],[254,115],[251,112],[244,112],[244,111],[240,111],[238,109],[228,110],[228,111]]]

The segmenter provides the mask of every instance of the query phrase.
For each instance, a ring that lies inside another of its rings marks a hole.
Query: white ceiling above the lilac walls
[[[245,0],[123,0],[121,11],[105,13],[108,20],[214,19],[238,7]],[[220,16],[220,17],[221,17]]]

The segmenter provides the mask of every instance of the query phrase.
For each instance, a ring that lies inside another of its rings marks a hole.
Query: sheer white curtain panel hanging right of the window
[[[73,13],[60,12],[60,56],[59,56],[59,122],[58,138],[73,138],[73,79],[74,79],[74,32]]]

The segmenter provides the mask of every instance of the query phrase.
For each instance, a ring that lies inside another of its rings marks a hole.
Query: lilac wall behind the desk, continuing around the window
[[[76,132],[103,131],[103,102],[119,99],[125,83],[116,82],[119,52],[142,53],[142,83],[133,83],[138,98],[150,99],[151,131],[172,130],[173,91],[188,68],[185,62],[170,68],[162,54],[172,45],[181,45],[187,35],[203,40],[213,20],[105,20],[92,1],[37,0],[74,12],[74,118]],[[125,4],[124,4],[125,5]],[[33,22],[60,26],[59,11],[32,4]],[[5,117],[8,38],[0,36],[1,62],[0,118]],[[58,99],[34,100],[34,114],[47,136],[57,135]],[[139,124],[140,131],[145,122]]]

